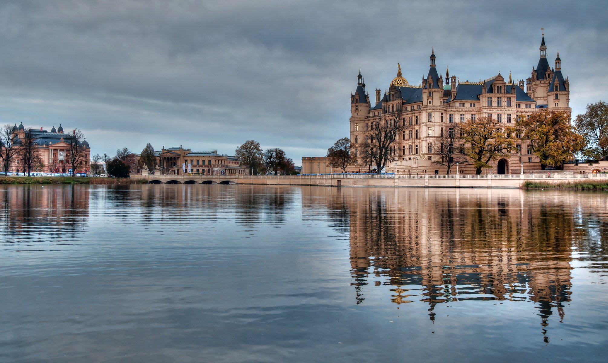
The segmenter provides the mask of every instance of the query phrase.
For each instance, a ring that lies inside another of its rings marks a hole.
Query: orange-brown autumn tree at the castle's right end
[[[564,162],[585,146],[584,138],[575,133],[564,111],[545,109],[530,117],[518,117],[517,126],[530,140],[532,153],[539,157],[542,170],[548,166],[561,169]]]

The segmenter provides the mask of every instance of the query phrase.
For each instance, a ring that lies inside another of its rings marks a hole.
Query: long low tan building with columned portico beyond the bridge
[[[246,175],[249,168],[240,165],[238,159],[227,154],[213,151],[192,151],[180,147],[165,149],[163,146],[158,156],[161,173],[169,175]]]

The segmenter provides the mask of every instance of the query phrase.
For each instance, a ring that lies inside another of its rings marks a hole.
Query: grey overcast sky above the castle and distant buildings
[[[361,67],[372,102],[401,63],[418,85],[530,77],[541,27],[573,115],[608,101],[603,1],[2,0],[0,123],[80,128],[92,154],[147,142],[233,154],[254,139],[301,165],[348,136]]]

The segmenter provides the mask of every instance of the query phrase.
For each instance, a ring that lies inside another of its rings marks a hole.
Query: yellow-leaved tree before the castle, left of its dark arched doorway
[[[501,128],[490,117],[466,120],[460,124],[460,137],[465,141],[463,151],[473,162],[475,175],[480,175],[482,168],[491,168],[490,161],[510,156],[515,150],[514,132],[513,127]]]

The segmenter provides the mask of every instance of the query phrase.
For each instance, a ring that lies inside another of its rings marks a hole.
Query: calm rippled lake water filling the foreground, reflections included
[[[2,362],[606,362],[608,194],[0,187]]]

